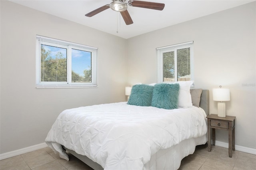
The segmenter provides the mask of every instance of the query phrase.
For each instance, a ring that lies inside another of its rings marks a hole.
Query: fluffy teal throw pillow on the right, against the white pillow
[[[180,85],[160,83],[154,86],[151,106],[164,109],[178,108]]]

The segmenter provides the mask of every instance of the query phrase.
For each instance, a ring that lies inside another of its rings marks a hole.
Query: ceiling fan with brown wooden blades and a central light
[[[130,25],[133,23],[133,21],[129,12],[127,11],[127,7],[128,7],[127,5],[140,7],[140,8],[148,8],[153,10],[164,9],[164,4],[156,3],[156,2],[146,2],[146,1],[139,1],[139,0],[129,0],[128,2],[125,2],[126,0],[112,0],[112,1],[113,2],[111,2],[110,4],[104,5],[100,8],[97,8],[96,10],[93,10],[92,12],[89,12],[88,14],[85,14],[85,16],[91,17],[108,8],[111,8],[116,12],[120,12],[126,25]]]

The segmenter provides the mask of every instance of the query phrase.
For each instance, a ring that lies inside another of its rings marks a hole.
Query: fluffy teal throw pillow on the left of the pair
[[[150,106],[154,86],[147,84],[136,84],[132,86],[132,91],[127,104],[136,106]]]

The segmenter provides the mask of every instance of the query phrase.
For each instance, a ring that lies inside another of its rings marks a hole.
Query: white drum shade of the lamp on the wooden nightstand
[[[214,101],[230,101],[230,90],[229,88],[213,88],[212,98]]]

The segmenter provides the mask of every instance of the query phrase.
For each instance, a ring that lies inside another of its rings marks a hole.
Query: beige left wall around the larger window
[[[43,143],[64,109],[126,100],[125,39],[9,1],[0,3],[1,154]],[[98,88],[36,89],[37,34],[98,47]]]

